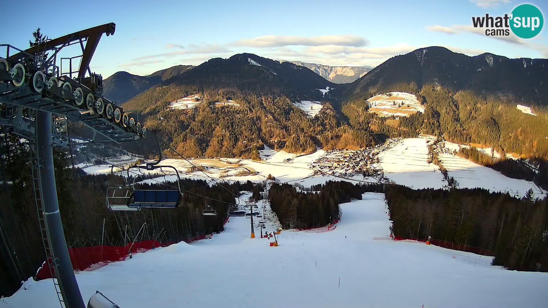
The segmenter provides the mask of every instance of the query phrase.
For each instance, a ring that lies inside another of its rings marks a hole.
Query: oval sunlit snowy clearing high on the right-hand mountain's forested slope
[[[369,103],[368,112],[374,112],[381,117],[406,117],[425,110],[425,106],[420,104],[415,95],[405,92],[375,95],[367,102]]]

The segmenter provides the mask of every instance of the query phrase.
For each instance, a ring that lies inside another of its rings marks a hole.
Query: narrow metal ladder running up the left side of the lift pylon
[[[57,298],[59,299],[59,304],[61,305],[61,308],[66,308],[66,304],[64,300],[65,298],[64,290],[62,288],[61,282],[58,279],[56,279],[57,273],[59,272],[57,269],[59,259],[55,258],[55,255],[53,254],[52,243],[49,239],[47,221],[45,220],[44,204],[42,202],[42,189],[41,189],[42,183],[40,182],[40,169],[39,169],[41,167],[41,159],[38,157],[36,134],[35,134],[35,138],[29,140],[29,145],[30,145],[31,169],[32,169],[32,188],[34,190],[34,195],[35,195],[36,210],[38,212],[38,222],[40,225],[42,243],[44,244],[44,251],[46,256],[45,262],[47,263],[46,266],[49,267],[50,273],[52,274],[52,280],[55,286],[55,292],[57,293]]]

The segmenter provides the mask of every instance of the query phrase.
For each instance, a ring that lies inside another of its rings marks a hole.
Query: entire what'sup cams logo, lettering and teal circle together
[[[486,28],[487,36],[509,36],[510,30],[521,38],[532,38],[540,33],[544,25],[543,13],[532,4],[521,4],[504,16],[472,17],[475,28]]]

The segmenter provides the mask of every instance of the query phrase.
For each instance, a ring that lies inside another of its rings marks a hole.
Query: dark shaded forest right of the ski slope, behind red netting
[[[493,265],[548,271],[547,201],[483,189],[386,189],[392,232],[404,238],[449,241],[495,252]]]

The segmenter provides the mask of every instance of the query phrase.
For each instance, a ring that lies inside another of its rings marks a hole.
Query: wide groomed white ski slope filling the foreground
[[[335,230],[283,231],[278,247],[249,238],[250,220],[232,217],[212,239],[138,253],[76,278],[86,303],[99,290],[120,307],[546,304],[548,273],[507,271],[491,266],[487,256],[419,242],[374,240],[390,232],[381,193],[365,193],[361,201],[341,204],[341,211]],[[29,280],[24,287],[0,307],[59,306],[51,280]]]

